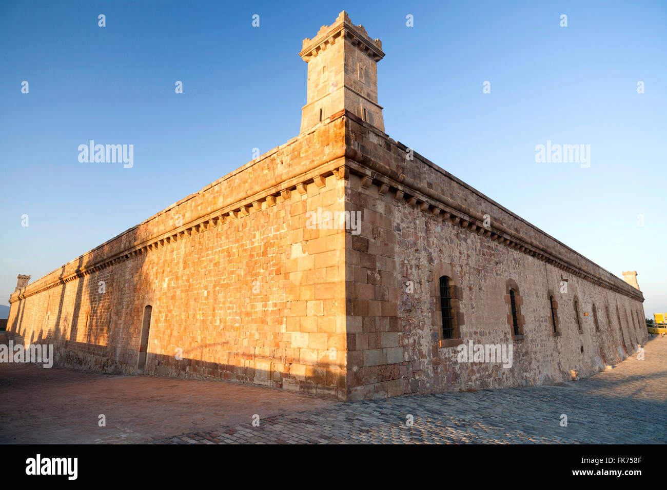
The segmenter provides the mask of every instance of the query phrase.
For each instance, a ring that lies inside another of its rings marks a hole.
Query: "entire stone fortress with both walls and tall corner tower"
[[[646,340],[634,271],[630,285],[386,135],[379,39],[342,12],[299,54],[297,137],[19,275],[11,338],[52,343],[60,365],[350,401],[557,383]],[[471,341],[512,346],[511,367],[461,361]]]

